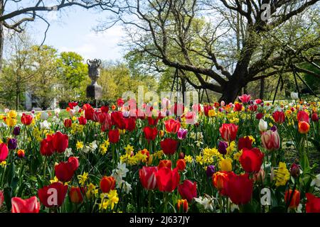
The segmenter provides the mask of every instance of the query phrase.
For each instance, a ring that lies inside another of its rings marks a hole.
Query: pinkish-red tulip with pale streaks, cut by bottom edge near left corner
[[[39,213],[40,203],[36,196],[29,199],[11,198],[11,213]]]

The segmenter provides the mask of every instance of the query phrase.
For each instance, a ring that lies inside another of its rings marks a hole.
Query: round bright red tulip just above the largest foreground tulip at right
[[[243,148],[239,161],[245,172],[259,172],[264,156],[258,148],[252,148],[251,150]]]

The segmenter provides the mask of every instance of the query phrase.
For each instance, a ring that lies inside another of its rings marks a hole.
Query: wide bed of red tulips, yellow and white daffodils
[[[1,115],[1,211],[320,211],[319,103],[129,103]]]

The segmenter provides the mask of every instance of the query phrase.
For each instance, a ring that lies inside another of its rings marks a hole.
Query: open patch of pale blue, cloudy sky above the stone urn
[[[46,45],[62,51],[78,52],[82,57],[101,60],[122,60],[125,54],[121,43],[124,32],[122,27],[114,26],[107,31],[96,33],[93,28],[108,12],[98,13],[94,9],[82,9],[78,6],[64,9],[62,12],[46,12],[43,16],[50,22]],[[41,19],[28,23],[28,33],[37,43],[41,43],[46,31],[46,23]]]

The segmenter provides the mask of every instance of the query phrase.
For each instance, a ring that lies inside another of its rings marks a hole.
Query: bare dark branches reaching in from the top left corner
[[[119,7],[117,7],[118,11],[114,10],[117,5],[116,1],[112,0],[0,0],[0,70],[4,48],[4,28],[21,33],[26,23],[36,18],[40,18],[50,26],[41,12],[60,11],[70,6],[119,12]]]

